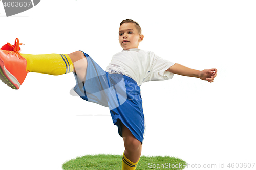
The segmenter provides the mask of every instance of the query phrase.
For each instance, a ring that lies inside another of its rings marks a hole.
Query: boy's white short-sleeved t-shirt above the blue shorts
[[[132,48],[115,54],[105,71],[129,76],[140,87],[143,82],[172,79],[174,74],[165,70],[174,64],[154,52]]]

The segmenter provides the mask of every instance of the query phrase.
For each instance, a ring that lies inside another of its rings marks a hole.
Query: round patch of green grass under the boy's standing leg
[[[170,156],[141,156],[136,170],[184,169],[186,162]],[[183,166],[184,165],[184,166]],[[176,167],[175,167],[176,166]],[[121,170],[122,155],[85,155],[62,165],[64,170]]]

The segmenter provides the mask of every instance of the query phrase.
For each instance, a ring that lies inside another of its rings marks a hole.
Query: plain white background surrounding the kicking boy
[[[190,68],[218,69],[214,83],[175,75],[141,86],[142,155],[219,169],[256,162],[255,7],[255,1],[45,0],[6,17],[1,4],[0,44],[18,37],[22,53],[83,50],[105,70],[122,50],[120,22],[137,21],[144,34],[139,48]],[[72,73],[29,73],[19,90],[0,83],[0,169],[60,170],[77,156],[123,153],[109,108],[70,95],[74,85]]]

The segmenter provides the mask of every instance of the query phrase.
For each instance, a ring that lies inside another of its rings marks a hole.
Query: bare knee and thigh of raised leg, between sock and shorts
[[[81,82],[85,81],[87,71],[86,56],[84,56],[83,52],[81,51],[76,51],[68,55],[73,62],[74,72],[76,72],[76,75],[81,80]]]

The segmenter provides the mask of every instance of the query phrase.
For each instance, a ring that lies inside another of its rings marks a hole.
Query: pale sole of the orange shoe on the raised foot
[[[13,89],[19,89],[20,83],[18,80],[13,76],[4,65],[4,62],[0,59],[0,79],[4,82],[7,86]]]

